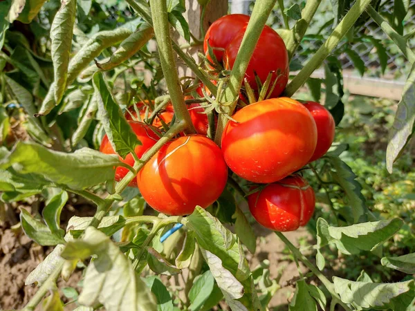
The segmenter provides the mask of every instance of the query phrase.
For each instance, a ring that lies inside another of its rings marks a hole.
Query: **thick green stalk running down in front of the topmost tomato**
[[[239,89],[241,88],[246,68],[248,68],[255,46],[257,46],[259,35],[261,35],[261,32],[264,29],[268,16],[273,10],[276,1],[277,0],[257,0],[257,2],[255,2],[254,10],[252,10],[252,15],[246,28],[245,35],[243,35],[241,46],[239,47],[237,59],[235,59],[234,66],[230,72],[228,87],[223,93],[223,98],[219,99],[222,102],[232,102],[232,105],[229,106],[227,111],[228,115],[232,115],[237,106]],[[220,115],[214,138],[214,141],[219,146],[221,145],[222,132],[227,122],[228,118],[225,117],[225,115]]]

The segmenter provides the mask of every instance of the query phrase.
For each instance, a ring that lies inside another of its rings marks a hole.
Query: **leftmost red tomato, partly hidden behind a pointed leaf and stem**
[[[153,147],[154,144],[156,144],[159,137],[158,135],[156,135],[156,133],[154,133],[154,131],[152,131],[149,128],[147,124],[134,121],[129,121],[129,124],[131,125],[131,129],[133,129],[134,133],[136,133],[138,140],[140,140],[140,142],[142,143],[141,146],[137,146],[136,149],[134,149],[138,158],[141,158],[145,151],[147,151],[148,149]],[[104,138],[102,138],[100,151],[106,154],[116,154],[116,151],[114,151],[113,147],[111,146],[111,143],[109,142],[107,135],[104,135]],[[134,158],[131,155],[131,153],[129,153],[129,155],[127,155],[125,159],[122,159],[120,157],[120,160],[124,163],[129,164],[131,167],[134,164]],[[117,167],[116,181],[122,180],[122,178],[124,178],[124,176],[126,176],[128,172],[129,170],[125,167]],[[136,185],[137,180],[136,178],[133,178],[133,180],[131,180],[131,182],[129,183],[129,186],[134,187]]]

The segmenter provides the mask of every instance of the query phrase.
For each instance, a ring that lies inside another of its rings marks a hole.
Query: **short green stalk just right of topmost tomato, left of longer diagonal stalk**
[[[301,11],[301,19],[295,23],[293,29],[288,32],[287,37],[284,36],[288,57],[290,59],[293,58],[295,50],[297,50],[302,38],[306,34],[308,25],[310,25],[311,20],[315,15],[315,11],[317,11],[321,2],[322,0],[308,0],[306,6],[304,6],[304,9]]]

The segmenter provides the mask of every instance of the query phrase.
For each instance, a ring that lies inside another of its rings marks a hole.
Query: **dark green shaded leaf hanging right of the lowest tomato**
[[[331,156],[327,158],[334,169],[332,171],[333,179],[342,187],[349,200],[354,223],[367,220],[368,210],[366,200],[362,195],[362,186],[356,180],[357,176],[353,173],[349,165],[340,160],[340,158]]]

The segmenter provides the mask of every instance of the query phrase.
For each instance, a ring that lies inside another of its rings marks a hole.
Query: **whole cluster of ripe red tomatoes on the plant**
[[[207,58],[212,59],[213,51],[213,62],[232,69],[248,21],[246,15],[228,15],[212,23],[204,41]],[[268,66],[264,66],[264,59]],[[192,104],[189,112],[198,134],[181,135],[163,145],[130,186],[138,186],[142,197],[157,211],[187,215],[196,205],[205,208],[219,198],[229,168],[255,185],[248,205],[261,225],[277,231],[306,225],[315,208],[315,196],[308,182],[295,172],[326,153],[333,142],[335,123],[329,111],[317,102],[302,104],[277,97],[288,82],[288,54],[281,37],[266,26],[248,65],[246,79],[255,90],[259,87],[255,79],[259,77],[264,83],[270,73],[275,86],[271,98],[234,113],[223,131],[221,148],[206,136],[208,117],[202,113],[203,108]],[[158,141],[154,128],[168,124],[174,115],[169,104],[151,125],[133,120],[143,120],[149,108],[151,103],[142,102],[126,113],[142,142],[135,149],[139,158]],[[100,151],[115,153],[107,135]],[[122,161],[130,165],[134,162],[131,154]],[[124,167],[117,167],[116,180],[127,172]]]

